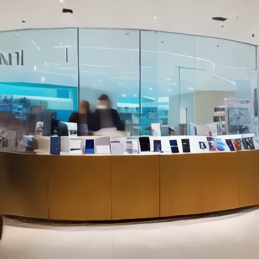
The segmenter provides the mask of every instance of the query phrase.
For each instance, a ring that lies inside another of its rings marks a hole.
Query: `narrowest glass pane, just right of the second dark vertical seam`
[[[140,135],[152,135],[150,124],[167,124],[161,105],[157,106],[158,91],[157,32],[141,31],[141,125]],[[168,106],[168,102],[167,102]],[[168,114],[168,113],[167,113]]]

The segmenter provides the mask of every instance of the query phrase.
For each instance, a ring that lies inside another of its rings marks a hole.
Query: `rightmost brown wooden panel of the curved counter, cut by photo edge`
[[[259,150],[238,152],[239,206],[259,204]]]

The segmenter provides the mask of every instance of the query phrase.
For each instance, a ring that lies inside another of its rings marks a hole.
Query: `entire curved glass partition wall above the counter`
[[[68,121],[80,101],[95,110],[101,95],[131,136],[151,135],[157,122],[172,135],[258,131],[256,46],[77,28],[0,32],[0,42],[0,124],[21,135],[35,132],[42,111]]]

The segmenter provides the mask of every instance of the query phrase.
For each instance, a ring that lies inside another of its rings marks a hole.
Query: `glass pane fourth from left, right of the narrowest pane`
[[[194,36],[157,32],[158,110],[174,135],[193,122]]]

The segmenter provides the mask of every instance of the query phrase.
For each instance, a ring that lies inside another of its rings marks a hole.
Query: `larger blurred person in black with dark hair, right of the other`
[[[107,95],[98,98],[98,105],[95,111],[95,127],[101,128],[116,127],[117,131],[125,131],[125,124],[120,120],[117,110],[111,108],[111,102]]]

